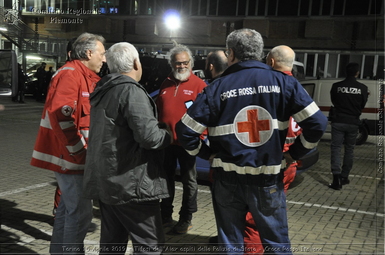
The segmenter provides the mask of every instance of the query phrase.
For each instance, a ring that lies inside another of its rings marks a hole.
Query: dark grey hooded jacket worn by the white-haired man
[[[83,192],[105,204],[169,197],[163,148],[171,137],[159,129],[156,106],[129,76],[104,76],[90,94],[90,129]]]

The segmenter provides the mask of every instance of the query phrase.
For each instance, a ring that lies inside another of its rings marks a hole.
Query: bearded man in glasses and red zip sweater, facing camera
[[[198,185],[196,183],[195,156],[191,156],[181,147],[174,127],[186,113],[187,108],[195,101],[196,96],[201,93],[206,83],[192,74],[194,58],[185,45],[176,44],[170,50],[169,65],[172,72],[163,81],[156,99],[159,121],[165,122],[174,135],[174,142],[165,149],[163,164],[171,185],[171,197],[162,199],[161,214],[163,227],[174,224],[172,202],[175,195],[175,170],[178,160],[181,167],[183,197],[182,207],[179,210],[179,221],[174,226],[173,231],[182,234],[192,229],[192,214],[198,210],[196,204]]]

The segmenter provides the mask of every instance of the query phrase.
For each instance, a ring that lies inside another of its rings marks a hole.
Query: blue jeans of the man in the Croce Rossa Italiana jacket
[[[222,247],[219,254],[239,254],[242,250],[248,212],[253,216],[261,243],[268,254],[292,254],[282,181],[271,187],[259,187],[238,180],[225,182],[214,177],[211,194],[218,243]]]

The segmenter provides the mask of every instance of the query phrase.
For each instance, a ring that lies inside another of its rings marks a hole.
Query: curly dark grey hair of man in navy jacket
[[[260,33],[253,29],[242,28],[231,32],[226,39],[226,47],[233,49],[239,61],[261,60],[263,40]]]

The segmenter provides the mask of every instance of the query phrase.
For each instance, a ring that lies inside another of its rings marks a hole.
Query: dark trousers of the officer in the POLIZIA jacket
[[[358,125],[331,123],[330,165],[333,175],[341,174],[347,178],[353,167],[353,151],[356,143]],[[341,171],[341,147],[345,147]]]

